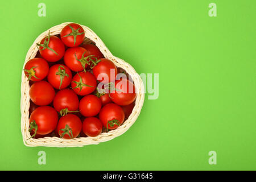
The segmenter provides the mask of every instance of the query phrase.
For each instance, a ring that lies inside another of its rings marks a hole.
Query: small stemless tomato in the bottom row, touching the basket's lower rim
[[[82,122],[82,132],[89,137],[97,137],[101,134],[102,123],[100,119],[89,117]]]

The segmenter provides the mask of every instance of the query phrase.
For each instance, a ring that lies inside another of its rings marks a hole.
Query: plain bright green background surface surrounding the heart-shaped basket
[[[46,17],[38,4],[46,3]],[[217,17],[209,17],[209,3]],[[0,169],[256,169],[256,1],[2,1]],[[90,27],[138,73],[159,73],[159,98],[109,142],[26,147],[20,80],[31,44],[63,22]],[[47,164],[38,164],[46,151]],[[217,164],[208,152],[217,152]]]

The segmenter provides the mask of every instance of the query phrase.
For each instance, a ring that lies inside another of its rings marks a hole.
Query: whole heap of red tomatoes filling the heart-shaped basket
[[[96,137],[117,129],[135,105],[135,86],[76,23],[42,39],[24,66],[30,81],[32,138]]]

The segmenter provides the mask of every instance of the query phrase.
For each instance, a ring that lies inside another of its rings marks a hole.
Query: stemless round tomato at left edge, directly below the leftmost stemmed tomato
[[[47,81],[37,81],[30,87],[30,98],[34,104],[45,106],[53,101],[55,91]]]

